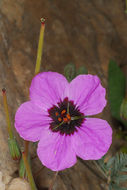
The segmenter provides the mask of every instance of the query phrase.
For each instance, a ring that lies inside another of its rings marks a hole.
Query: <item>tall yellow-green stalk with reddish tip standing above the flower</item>
[[[45,19],[41,18],[41,29],[40,29],[40,36],[39,36],[39,42],[38,42],[35,74],[39,73],[40,71],[43,44],[44,44],[44,30],[45,30]]]

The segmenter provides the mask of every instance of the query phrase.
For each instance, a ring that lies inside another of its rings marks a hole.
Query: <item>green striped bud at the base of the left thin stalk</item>
[[[21,152],[19,149],[19,145],[15,138],[8,139],[8,146],[10,150],[11,157],[13,160],[19,160],[21,158]]]

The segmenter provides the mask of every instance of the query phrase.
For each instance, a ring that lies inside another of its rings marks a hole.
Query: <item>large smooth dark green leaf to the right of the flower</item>
[[[125,96],[125,76],[113,60],[109,63],[108,88],[112,116],[127,127],[127,122],[120,117],[120,107]]]

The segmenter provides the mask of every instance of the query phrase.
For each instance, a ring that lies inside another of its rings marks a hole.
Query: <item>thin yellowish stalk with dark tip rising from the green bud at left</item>
[[[4,110],[5,110],[5,114],[6,114],[7,130],[8,130],[9,138],[13,139],[14,136],[13,136],[13,131],[12,131],[12,127],[11,127],[11,121],[10,121],[10,117],[9,117],[6,89],[3,88],[2,92],[3,92]]]

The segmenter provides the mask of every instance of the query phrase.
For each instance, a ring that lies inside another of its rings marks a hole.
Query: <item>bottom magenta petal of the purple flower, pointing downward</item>
[[[38,144],[37,154],[42,164],[53,171],[64,170],[76,163],[70,136],[45,130]]]

